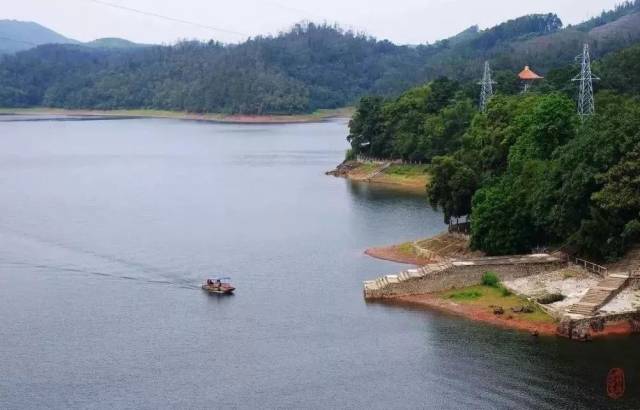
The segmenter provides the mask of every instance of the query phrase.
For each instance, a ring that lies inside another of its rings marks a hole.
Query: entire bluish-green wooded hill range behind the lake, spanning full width
[[[514,70],[565,66],[585,40],[600,57],[640,40],[639,9],[625,3],[564,29],[553,14],[525,16],[417,47],[315,24],[239,45],[45,45],[2,58],[0,106],[302,113],[397,96],[441,76],[475,80],[485,59],[508,92],[517,89]]]

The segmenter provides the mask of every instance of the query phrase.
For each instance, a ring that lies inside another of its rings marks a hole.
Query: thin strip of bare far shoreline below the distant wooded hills
[[[71,116],[79,118],[159,118],[187,121],[215,122],[224,124],[307,124],[329,121],[336,118],[348,119],[353,108],[345,107],[330,110],[318,110],[311,114],[293,115],[240,115],[240,114],[196,114],[180,111],[162,110],[85,110],[63,108],[0,108],[2,115],[22,116]]]

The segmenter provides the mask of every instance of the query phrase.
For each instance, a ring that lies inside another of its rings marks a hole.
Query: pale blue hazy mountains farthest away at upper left
[[[38,23],[0,20],[0,54],[25,51],[43,44],[83,44]],[[103,48],[134,48],[142,45],[120,38],[102,38],[84,45]]]

